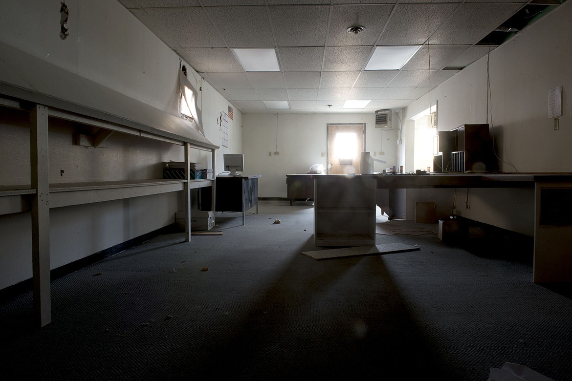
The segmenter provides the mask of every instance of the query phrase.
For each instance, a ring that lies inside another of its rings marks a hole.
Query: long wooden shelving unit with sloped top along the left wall
[[[52,67],[51,70],[63,69]],[[41,73],[41,70],[37,73]],[[70,77],[69,72],[62,75]],[[186,163],[190,162],[192,149],[209,151],[213,168],[215,151],[219,148],[194,130],[189,122],[77,75],[74,75],[74,82],[82,89],[80,94],[85,96],[85,99],[62,99],[60,94],[50,93],[52,88],[57,88],[50,81],[57,81],[57,78],[58,75],[54,75],[54,78],[38,77],[34,89],[27,89],[3,82],[0,75],[0,108],[25,111],[29,114],[30,183],[0,185],[0,215],[31,211],[34,312],[38,326],[51,322],[50,208],[182,191],[185,195],[185,239],[189,241],[190,190],[210,186],[212,199],[215,200],[214,181],[190,180],[189,165],[185,169],[186,180],[140,179],[50,184],[50,123],[64,120],[80,126],[89,126],[96,131],[88,139],[93,147],[101,145],[110,135],[121,133],[183,146]]]

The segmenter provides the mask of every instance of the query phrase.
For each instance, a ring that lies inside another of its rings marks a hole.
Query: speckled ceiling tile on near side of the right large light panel
[[[422,45],[458,4],[398,4],[376,45]]]

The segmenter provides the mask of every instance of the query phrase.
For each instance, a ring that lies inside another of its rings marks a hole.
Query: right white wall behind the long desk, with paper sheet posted
[[[496,154],[505,172],[571,172],[572,3],[566,2],[513,39],[492,50],[489,60],[491,114]],[[466,67],[431,92],[439,102],[438,129],[487,122],[487,57]],[[548,118],[548,93],[563,87],[560,129]],[[428,95],[405,110],[406,118],[427,108]],[[408,138],[408,137],[406,137]],[[512,164],[512,165],[511,165]],[[514,167],[513,167],[514,165]],[[427,198],[427,192],[424,194]],[[470,190],[467,218],[533,234],[534,192]],[[458,199],[459,203],[459,199]],[[507,211],[503,212],[503,211]],[[408,216],[408,218],[410,218]]]

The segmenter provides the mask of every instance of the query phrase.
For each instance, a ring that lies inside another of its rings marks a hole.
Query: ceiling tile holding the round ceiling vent
[[[374,45],[391,14],[393,5],[338,5],[333,7],[329,46]],[[348,33],[350,26],[364,26],[359,34]]]

